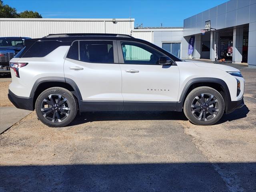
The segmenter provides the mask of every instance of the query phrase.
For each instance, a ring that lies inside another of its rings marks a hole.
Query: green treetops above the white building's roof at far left
[[[4,5],[3,1],[0,0],[0,18],[42,18],[42,16],[36,11],[28,10],[18,14],[15,8]]]

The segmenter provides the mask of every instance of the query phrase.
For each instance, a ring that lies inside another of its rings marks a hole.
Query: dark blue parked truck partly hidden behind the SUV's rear
[[[22,48],[29,37],[0,37],[0,72],[10,72],[9,62]]]

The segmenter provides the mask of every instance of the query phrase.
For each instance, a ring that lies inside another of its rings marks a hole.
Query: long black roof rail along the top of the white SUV
[[[42,38],[58,38],[58,37],[74,37],[74,36],[113,36],[113,37],[127,37],[134,38],[133,36],[126,34],[111,34],[111,33],[60,33],[60,34],[48,34]]]

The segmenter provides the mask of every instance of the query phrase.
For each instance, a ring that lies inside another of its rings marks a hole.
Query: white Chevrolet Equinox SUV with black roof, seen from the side
[[[244,105],[244,78],[233,67],[186,62],[120,34],[51,34],[28,39],[10,61],[8,97],[62,127],[77,111],[182,111],[212,125]]]

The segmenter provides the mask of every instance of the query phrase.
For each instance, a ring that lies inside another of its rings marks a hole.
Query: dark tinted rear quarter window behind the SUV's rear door
[[[29,50],[22,56],[22,58],[27,57],[44,57],[50,52],[58,48],[59,46],[70,45],[70,42],[60,42],[60,41],[37,41],[35,42]]]

